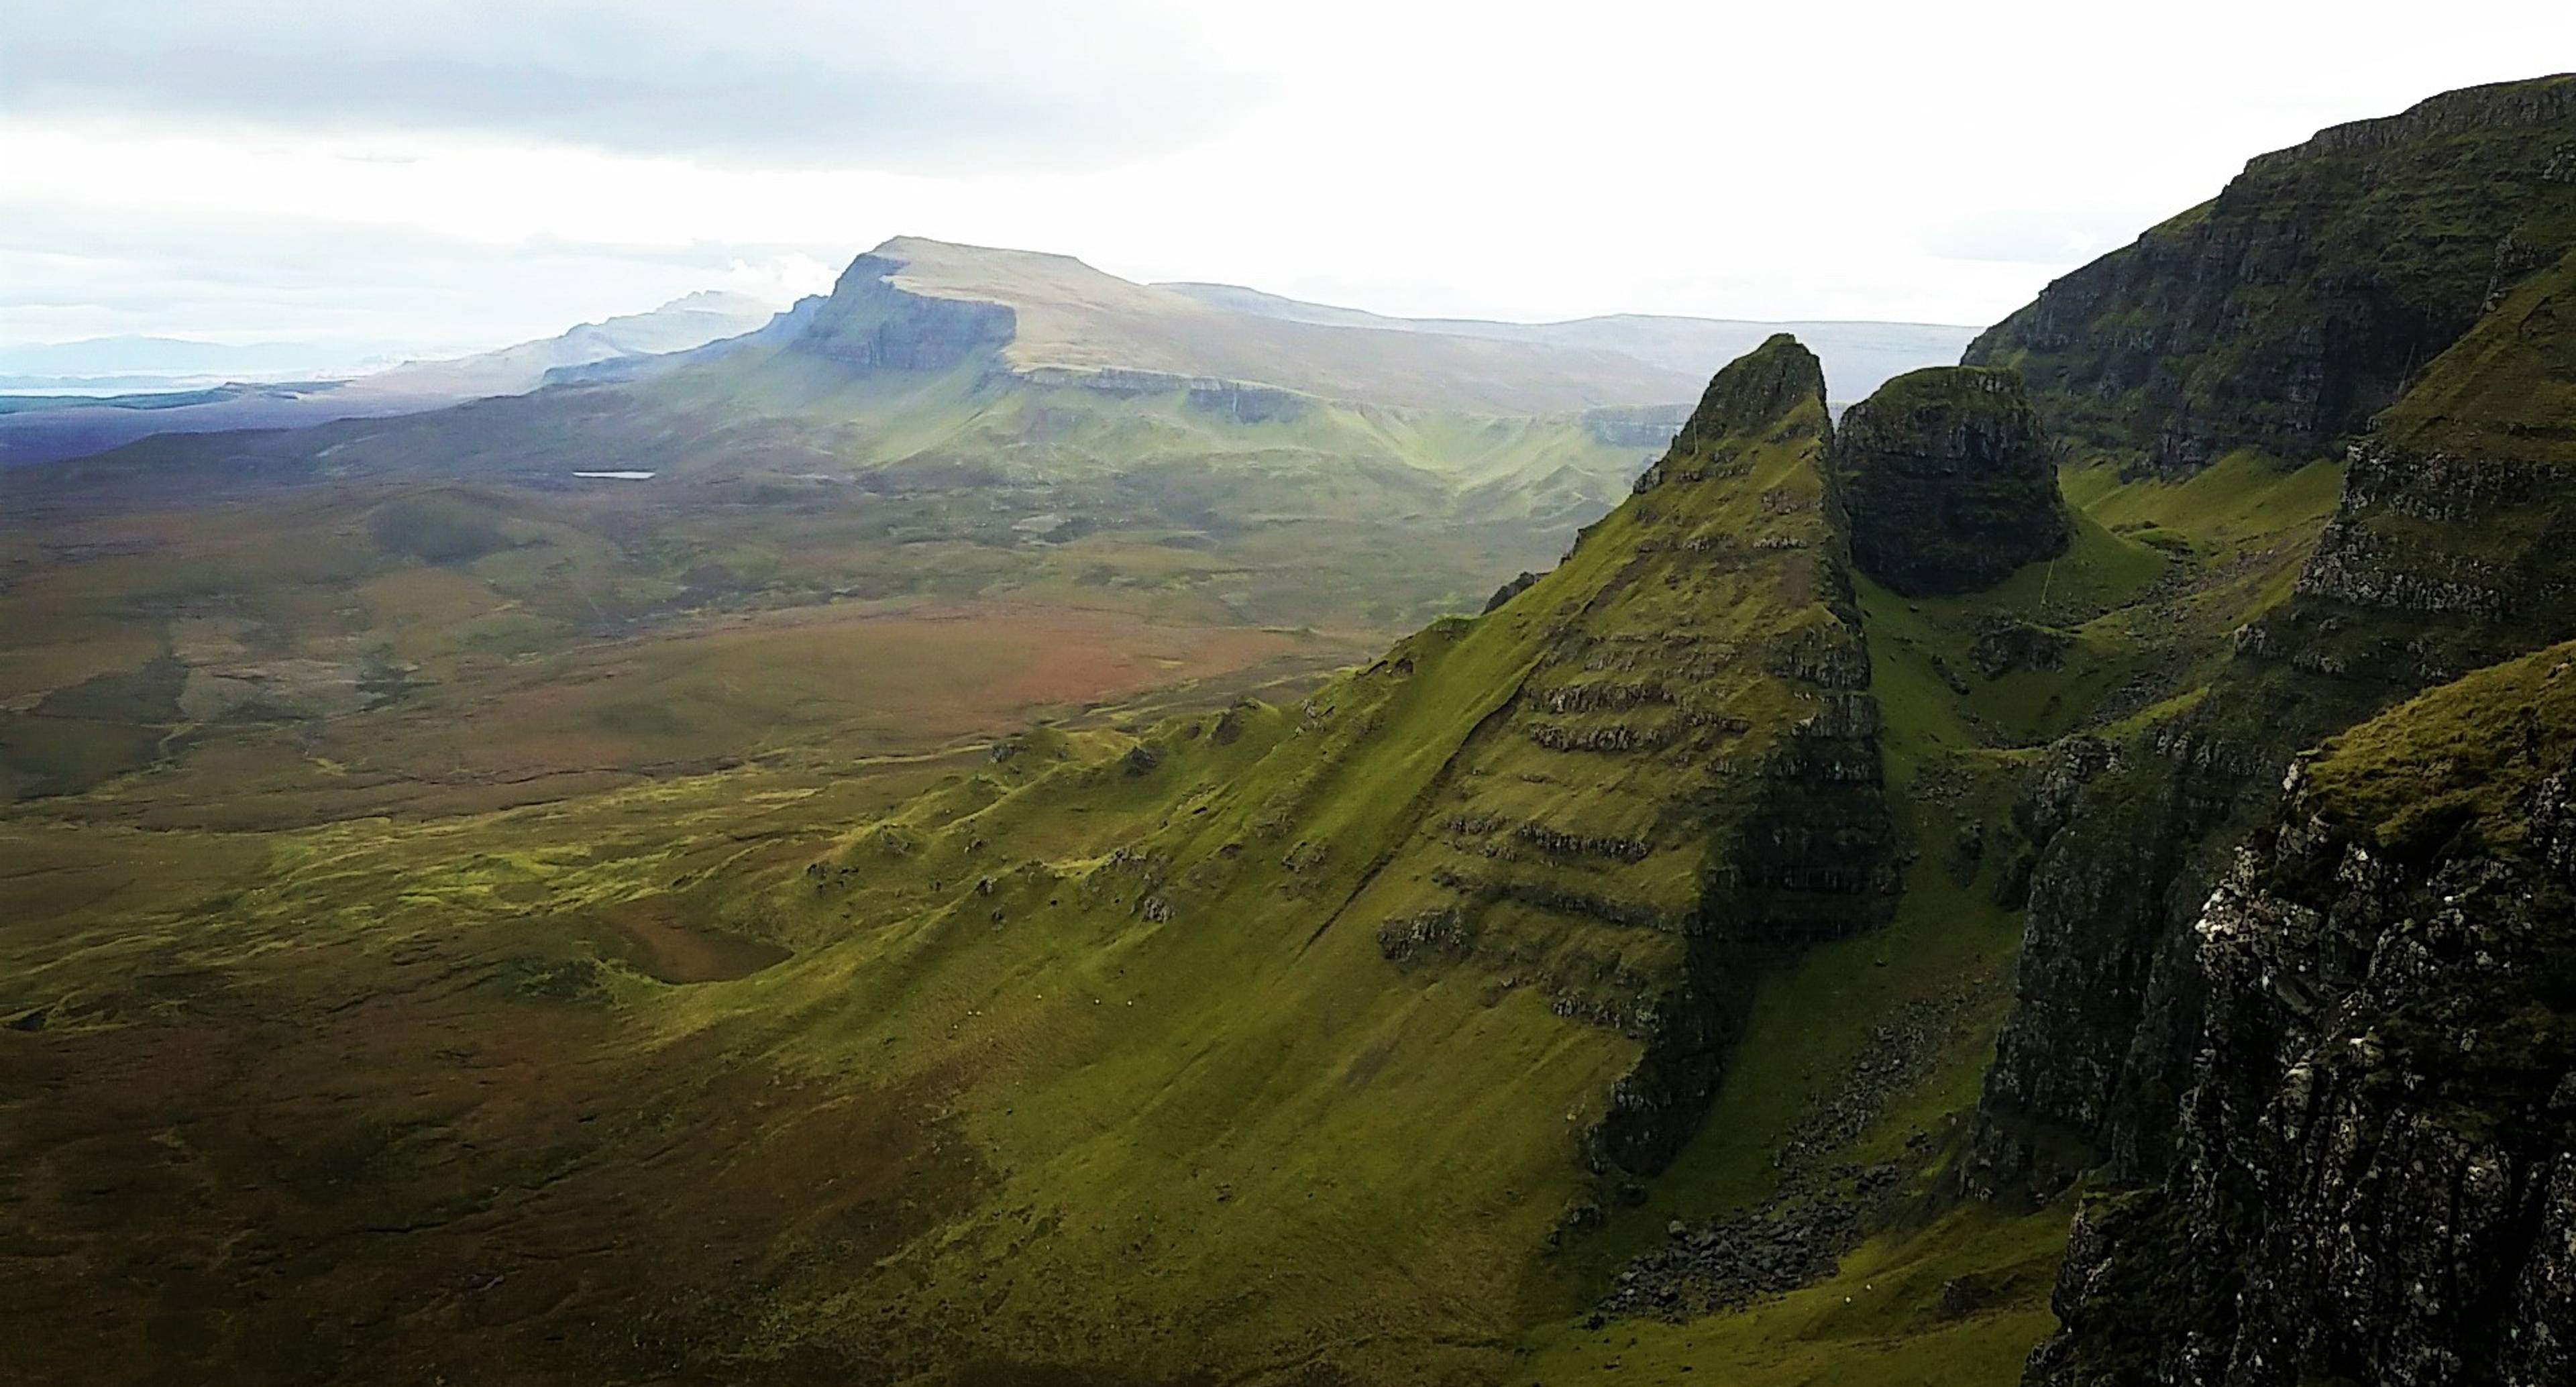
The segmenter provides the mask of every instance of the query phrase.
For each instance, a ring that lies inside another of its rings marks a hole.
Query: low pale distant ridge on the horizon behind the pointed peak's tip
[[[1932,322],[1739,322],[1659,314],[1605,314],[1569,322],[1399,319],[1365,309],[1303,304],[1231,283],[1164,283],[1157,288],[1285,322],[1437,332],[1448,337],[1618,353],[1692,378],[1705,378],[1728,360],[1754,350],[1765,337],[1788,332],[1824,358],[1824,378],[1834,399],[1842,401],[1860,399],[1906,371],[1953,363],[1968,340],[1976,337],[1973,327]]]

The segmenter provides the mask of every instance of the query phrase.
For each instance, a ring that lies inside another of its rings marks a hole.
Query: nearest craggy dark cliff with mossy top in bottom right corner
[[[2092,1202],[2032,1382],[2576,1374],[2576,646],[2293,772],[2192,921],[2169,1173]]]

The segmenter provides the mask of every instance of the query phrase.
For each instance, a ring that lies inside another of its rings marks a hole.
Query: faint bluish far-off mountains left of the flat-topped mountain
[[[526,394],[546,373],[618,358],[680,353],[770,322],[773,309],[742,293],[701,291],[647,314],[585,322],[556,337],[453,360],[407,360],[350,381],[234,383],[214,399],[15,399],[0,414],[0,466],[77,458],[155,432],[307,427],[330,419],[412,414],[464,399]],[[227,347],[214,360],[232,360]]]

